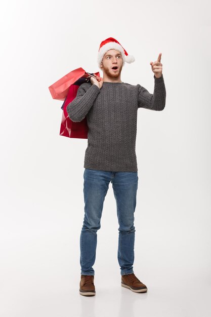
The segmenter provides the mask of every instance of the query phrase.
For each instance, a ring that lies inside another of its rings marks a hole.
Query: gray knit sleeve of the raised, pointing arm
[[[154,93],[150,94],[141,85],[138,86],[138,108],[146,108],[150,110],[163,110],[165,107],[165,84],[163,75],[160,78],[156,78],[154,75]]]

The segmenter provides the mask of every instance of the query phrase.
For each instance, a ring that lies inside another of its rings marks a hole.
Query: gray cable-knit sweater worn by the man
[[[87,116],[88,146],[83,167],[137,172],[137,110],[163,110],[165,97],[163,75],[154,75],[153,94],[139,84],[104,82],[101,89],[91,83],[80,85],[67,113],[73,122]]]

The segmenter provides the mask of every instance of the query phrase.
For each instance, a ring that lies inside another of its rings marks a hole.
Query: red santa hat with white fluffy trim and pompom
[[[115,38],[108,37],[104,41],[102,41],[100,44],[100,48],[98,51],[98,66],[99,67],[101,65],[104,54],[111,49],[117,50],[121,53],[121,56],[123,59],[123,65],[124,65],[124,62],[133,63],[135,61],[134,56],[128,55],[125,49],[121,46],[121,44],[118,41],[116,41]]]

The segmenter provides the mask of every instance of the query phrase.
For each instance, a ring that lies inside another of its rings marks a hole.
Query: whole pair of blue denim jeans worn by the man
[[[120,274],[131,274],[134,263],[134,212],[138,189],[138,172],[110,172],[85,169],[83,173],[85,216],[80,233],[80,266],[82,275],[95,275],[97,230],[103,211],[103,203],[112,183],[119,224],[118,263]],[[109,228],[108,228],[109,230]]]

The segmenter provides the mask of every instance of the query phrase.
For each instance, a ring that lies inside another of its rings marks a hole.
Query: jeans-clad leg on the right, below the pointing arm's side
[[[134,212],[138,189],[138,172],[115,172],[111,181],[119,223],[118,262],[121,275],[134,273]]]

